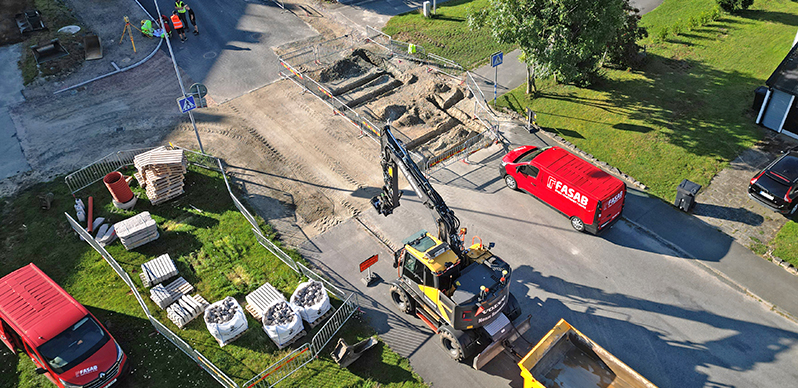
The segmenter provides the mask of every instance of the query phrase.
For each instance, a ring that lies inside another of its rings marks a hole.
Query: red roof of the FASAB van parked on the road
[[[624,185],[620,179],[560,147],[549,148],[534,161],[598,200],[615,194]]]

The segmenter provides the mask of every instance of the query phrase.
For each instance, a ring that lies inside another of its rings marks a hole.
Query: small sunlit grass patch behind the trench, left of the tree
[[[488,6],[488,0],[453,0],[438,5],[434,18],[408,12],[388,21],[382,32],[393,39],[415,43],[427,51],[451,59],[465,68],[487,63],[497,51],[512,51],[513,45],[496,43],[487,29],[471,31],[466,17],[472,9]]]

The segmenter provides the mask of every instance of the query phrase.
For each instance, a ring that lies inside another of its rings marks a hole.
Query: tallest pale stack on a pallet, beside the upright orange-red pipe
[[[183,150],[158,147],[136,155],[133,164],[138,170],[134,175],[153,205],[183,194],[183,178],[188,165]]]

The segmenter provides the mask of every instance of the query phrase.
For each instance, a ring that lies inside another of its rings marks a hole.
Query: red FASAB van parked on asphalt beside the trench
[[[523,146],[502,158],[507,187],[522,189],[597,234],[621,215],[626,184],[560,147]]]

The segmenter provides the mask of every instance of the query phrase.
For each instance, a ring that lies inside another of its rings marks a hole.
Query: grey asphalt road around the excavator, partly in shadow
[[[499,179],[499,146],[436,174],[433,185],[469,236],[495,242],[514,268],[511,291],[531,314],[530,341],[565,318],[659,387],[786,387],[798,378],[798,326],[679,257],[625,221],[600,237],[577,233],[568,219]],[[376,165],[374,168],[378,168]],[[362,222],[398,244],[420,228],[435,230],[411,191],[389,217]],[[470,241],[470,238],[467,240]],[[520,386],[517,366],[497,359],[485,371],[455,364],[418,319],[399,315],[385,283],[366,288],[357,264],[380,254],[375,272],[396,275],[389,250],[351,220],[306,244],[303,254],[345,288],[361,293],[371,323],[434,387]]]

